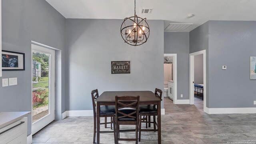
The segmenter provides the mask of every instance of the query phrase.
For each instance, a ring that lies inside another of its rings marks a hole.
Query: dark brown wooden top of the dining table
[[[140,102],[158,102],[161,99],[152,91],[106,91],[103,92],[96,102],[115,102],[116,96],[140,96]]]

